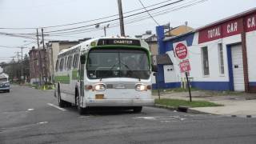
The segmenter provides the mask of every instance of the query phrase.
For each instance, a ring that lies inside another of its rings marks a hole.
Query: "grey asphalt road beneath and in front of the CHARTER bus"
[[[53,91],[13,86],[0,93],[0,143],[256,143],[256,118],[154,107],[80,116],[75,107],[55,106]]]

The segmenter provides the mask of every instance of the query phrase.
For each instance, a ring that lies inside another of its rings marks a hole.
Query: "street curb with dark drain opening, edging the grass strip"
[[[176,110],[176,111],[179,111],[179,112],[184,112],[184,113],[189,113],[189,114],[211,114],[211,113],[206,113],[206,112],[202,112],[202,111],[199,111],[199,110],[192,110],[187,106],[174,107],[174,106],[164,106],[164,105],[154,104],[153,107],[166,109],[166,110]],[[181,109],[183,109],[183,110],[181,110]]]

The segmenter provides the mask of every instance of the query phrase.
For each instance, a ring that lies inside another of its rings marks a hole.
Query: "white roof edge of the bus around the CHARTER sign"
[[[126,37],[102,37],[102,38],[92,38],[85,42],[79,43],[78,45],[72,46],[69,49],[60,51],[58,55],[64,54],[67,51],[75,50],[75,49],[78,49],[79,51],[90,50],[91,47],[105,45],[104,42],[108,43],[108,45],[141,46],[146,50],[149,50],[148,44],[142,39],[126,38]],[[91,46],[93,43],[94,43],[94,46]]]

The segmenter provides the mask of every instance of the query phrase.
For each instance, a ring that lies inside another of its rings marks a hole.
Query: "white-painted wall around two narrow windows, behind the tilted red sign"
[[[193,78],[193,81],[194,82],[229,82],[229,70],[228,70],[226,45],[235,44],[238,42],[241,42],[241,34],[198,44],[198,33],[195,33],[192,46],[188,46],[188,50],[190,54],[190,66],[191,66],[190,77]],[[225,70],[224,74],[221,74],[220,67],[219,67],[218,43],[222,43],[224,70]],[[204,46],[208,47],[209,70],[210,70],[209,76],[204,76],[202,71],[201,49]],[[176,61],[176,58],[174,58],[173,50],[166,52],[166,54],[169,54],[171,60],[174,62],[175,76],[168,74],[165,69],[165,72],[164,72],[165,80],[166,82],[170,82],[170,81],[172,82],[174,80],[176,82],[180,82],[180,79],[184,78],[184,74],[180,74],[178,62]],[[254,70],[256,70],[256,67],[254,67]],[[172,78],[166,78],[166,77],[172,77]]]

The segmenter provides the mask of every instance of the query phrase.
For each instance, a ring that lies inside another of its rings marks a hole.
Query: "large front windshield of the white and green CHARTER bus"
[[[87,77],[150,78],[149,59],[144,50],[90,50]]]

